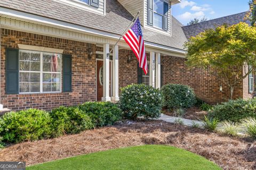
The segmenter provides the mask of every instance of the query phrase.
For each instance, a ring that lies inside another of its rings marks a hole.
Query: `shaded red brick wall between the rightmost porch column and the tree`
[[[186,59],[172,56],[162,56],[163,84],[186,84],[192,87],[197,97],[207,103],[220,103],[229,98],[229,88],[221,81],[201,69],[189,70]],[[222,92],[219,91],[222,84]],[[234,97],[243,97],[243,85],[235,87]]]

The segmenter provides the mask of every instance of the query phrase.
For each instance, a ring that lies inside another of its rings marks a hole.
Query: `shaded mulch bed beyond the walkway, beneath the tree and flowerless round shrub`
[[[198,107],[191,107],[191,108],[185,109],[185,111],[186,111],[186,114],[183,116],[183,118],[187,118],[190,120],[198,121],[207,115],[207,112],[201,111],[201,109],[199,109]],[[169,116],[175,116],[174,112],[170,112],[167,109],[163,110],[163,114],[166,114]]]

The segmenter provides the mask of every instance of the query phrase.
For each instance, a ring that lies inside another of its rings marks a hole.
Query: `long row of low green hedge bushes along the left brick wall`
[[[121,109],[109,102],[88,102],[76,107],[61,106],[50,113],[38,109],[9,112],[0,117],[0,148],[1,136],[6,142],[55,138],[112,125],[121,118]]]

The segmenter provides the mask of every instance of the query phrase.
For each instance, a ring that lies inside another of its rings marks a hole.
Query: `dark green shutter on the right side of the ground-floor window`
[[[63,54],[63,92],[72,91],[72,56]]]

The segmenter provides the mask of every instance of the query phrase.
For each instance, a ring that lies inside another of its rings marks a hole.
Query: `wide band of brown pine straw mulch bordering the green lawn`
[[[256,142],[223,137],[202,129],[162,121],[124,122],[60,138],[24,142],[0,151],[0,161],[27,165],[119,147],[145,144],[183,148],[223,169],[255,169]]]

